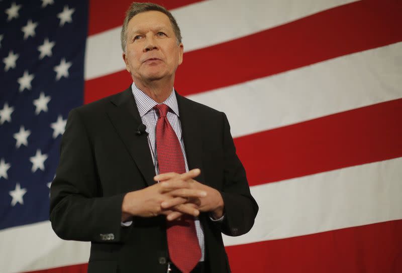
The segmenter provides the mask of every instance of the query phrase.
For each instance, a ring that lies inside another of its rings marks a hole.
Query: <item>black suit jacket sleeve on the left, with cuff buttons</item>
[[[102,242],[122,239],[124,194],[98,197],[102,189],[97,180],[89,134],[79,111],[74,109],[67,120],[50,190],[50,221],[60,238]]]

